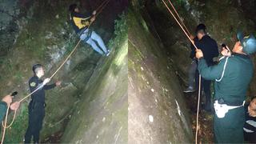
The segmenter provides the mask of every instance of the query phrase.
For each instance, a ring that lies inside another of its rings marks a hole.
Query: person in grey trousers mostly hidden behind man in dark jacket
[[[194,36],[190,36],[191,39],[193,39],[194,42],[198,42],[198,37],[195,37]],[[191,44],[190,45],[190,58],[192,59],[192,62],[190,63],[190,68],[189,68],[189,86],[186,88],[186,90],[183,90],[184,93],[190,93],[190,92],[194,92],[196,89],[195,89],[195,86],[194,86],[194,83],[195,83],[195,72],[197,71],[197,68],[198,68],[198,63],[197,63],[197,60],[195,58],[195,48],[194,46]]]

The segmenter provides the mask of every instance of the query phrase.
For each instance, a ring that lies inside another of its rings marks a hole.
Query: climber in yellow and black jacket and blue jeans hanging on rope
[[[96,13],[97,11],[94,10],[92,14],[80,14],[77,4],[72,4],[70,5],[70,23],[83,42],[88,43],[99,54],[108,56],[110,50],[106,48],[102,38],[89,28],[95,21]]]

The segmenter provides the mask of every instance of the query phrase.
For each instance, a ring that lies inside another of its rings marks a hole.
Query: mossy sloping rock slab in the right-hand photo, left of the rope
[[[134,9],[129,23],[129,143],[188,143],[192,131],[177,75],[165,48]]]

